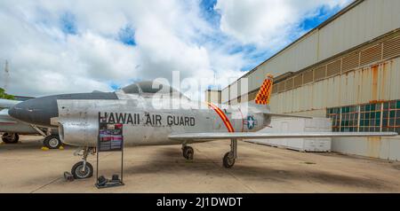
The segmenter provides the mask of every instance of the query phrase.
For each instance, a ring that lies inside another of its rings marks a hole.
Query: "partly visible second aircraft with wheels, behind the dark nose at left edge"
[[[20,135],[42,135],[44,146],[49,149],[58,149],[62,145],[58,136],[58,129],[38,128],[18,120],[12,119],[8,114],[8,108],[19,104],[21,101],[0,99],[0,132],[5,144],[16,144]]]

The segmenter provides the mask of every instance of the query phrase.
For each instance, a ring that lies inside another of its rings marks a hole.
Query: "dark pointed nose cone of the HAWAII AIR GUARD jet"
[[[8,114],[19,121],[50,127],[50,119],[58,116],[57,100],[52,96],[29,99],[12,106]]]

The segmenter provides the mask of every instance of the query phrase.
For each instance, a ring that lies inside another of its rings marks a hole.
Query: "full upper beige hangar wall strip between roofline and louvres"
[[[364,0],[258,66],[246,76],[249,78],[249,90],[258,89],[268,73],[279,75],[297,72],[399,28],[399,11],[398,0]],[[334,70],[331,71],[334,74]],[[227,92],[228,87],[222,90],[223,103],[238,95],[237,91],[231,90],[235,95],[229,97]]]

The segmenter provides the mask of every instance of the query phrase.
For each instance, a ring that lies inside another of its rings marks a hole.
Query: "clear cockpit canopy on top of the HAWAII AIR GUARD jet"
[[[160,82],[135,82],[122,90],[125,94],[140,94],[143,97],[187,98],[180,91]]]

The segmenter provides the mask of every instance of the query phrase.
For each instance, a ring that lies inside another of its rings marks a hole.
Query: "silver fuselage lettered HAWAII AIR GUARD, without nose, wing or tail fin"
[[[68,145],[96,146],[100,118],[124,124],[124,145],[181,145],[168,136],[176,133],[227,132],[226,121],[207,105],[180,98],[147,98],[116,92],[118,99],[58,99],[59,117],[51,124],[59,127],[60,138]],[[220,106],[235,132],[253,132],[267,126],[270,119],[240,106]],[[245,115],[245,116],[244,116]],[[252,127],[245,124],[247,116]],[[204,140],[210,141],[210,140]]]

